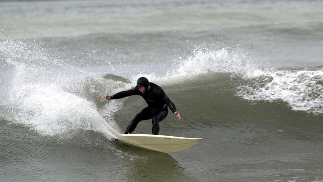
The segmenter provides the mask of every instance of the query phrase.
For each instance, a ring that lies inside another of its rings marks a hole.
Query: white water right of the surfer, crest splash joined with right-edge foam
[[[230,73],[238,96],[247,100],[283,100],[293,110],[323,113],[323,67],[261,68],[242,50],[198,50],[181,61],[171,76]]]

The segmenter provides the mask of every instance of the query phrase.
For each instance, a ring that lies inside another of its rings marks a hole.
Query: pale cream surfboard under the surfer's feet
[[[119,141],[122,143],[163,153],[190,149],[201,139],[149,134],[122,134],[119,136]]]

